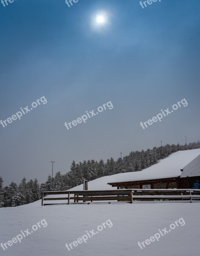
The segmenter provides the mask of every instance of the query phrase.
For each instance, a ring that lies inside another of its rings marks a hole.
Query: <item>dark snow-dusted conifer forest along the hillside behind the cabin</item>
[[[42,191],[61,191],[73,188],[83,183],[83,180],[95,180],[99,177],[114,175],[122,172],[138,172],[148,168],[159,160],[168,157],[171,153],[200,148],[200,142],[189,143],[189,145],[165,145],[162,147],[154,147],[146,151],[131,151],[128,156],[114,160],[112,157],[99,162],[88,160],[79,163],[72,161],[70,172],[61,174],[56,172],[55,176],[48,175],[45,183],[38,183],[38,180],[26,181],[23,177],[19,186],[12,182],[9,186],[3,187],[3,178],[0,176],[0,207],[15,207],[23,204],[29,204],[41,199]],[[122,168],[121,168],[122,165]]]

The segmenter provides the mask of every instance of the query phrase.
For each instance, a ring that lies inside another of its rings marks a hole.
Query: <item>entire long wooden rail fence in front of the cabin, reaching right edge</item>
[[[117,189],[87,191],[48,191],[42,192],[44,201],[200,201],[200,189]],[[59,195],[58,197],[49,197]],[[61,196],[63,195],[63,197]],[[72,195],[72,196],[71,196]]]

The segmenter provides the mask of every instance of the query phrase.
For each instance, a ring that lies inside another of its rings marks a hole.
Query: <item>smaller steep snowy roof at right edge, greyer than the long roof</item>
[[[183,172],[180,177],[200,176],[200,155],[183,167]]]

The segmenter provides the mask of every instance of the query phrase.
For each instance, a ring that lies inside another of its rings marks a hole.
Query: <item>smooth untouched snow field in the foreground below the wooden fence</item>
[[[41,201],[20,207],[0,209],[0,243],[32,230],[42,219],[48,225],[38,228],[0,255],[5,256],[199,256],[200,203],[90,203],[41,207]],[[141,249],[142,242],[175,221],[183,218],[185,225],[176,227]],[[103,229],[72,250],[65,244],[77,241],[109,220],[112,227]]]

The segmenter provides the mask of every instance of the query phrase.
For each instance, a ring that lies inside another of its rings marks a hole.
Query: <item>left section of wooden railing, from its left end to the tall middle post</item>
[[[46,197],[49,195],[66,195],[66,197]],[[70,196],[73,195],[73,196]],[[132,190],[118,189],[118,190],[94,190],[94,191],[48,191],[42,192],[42,205],[44,201],[66,200],[66,204],[70,204],[70,200],[74,203],[79,201],[121,201],[132,204]]]

